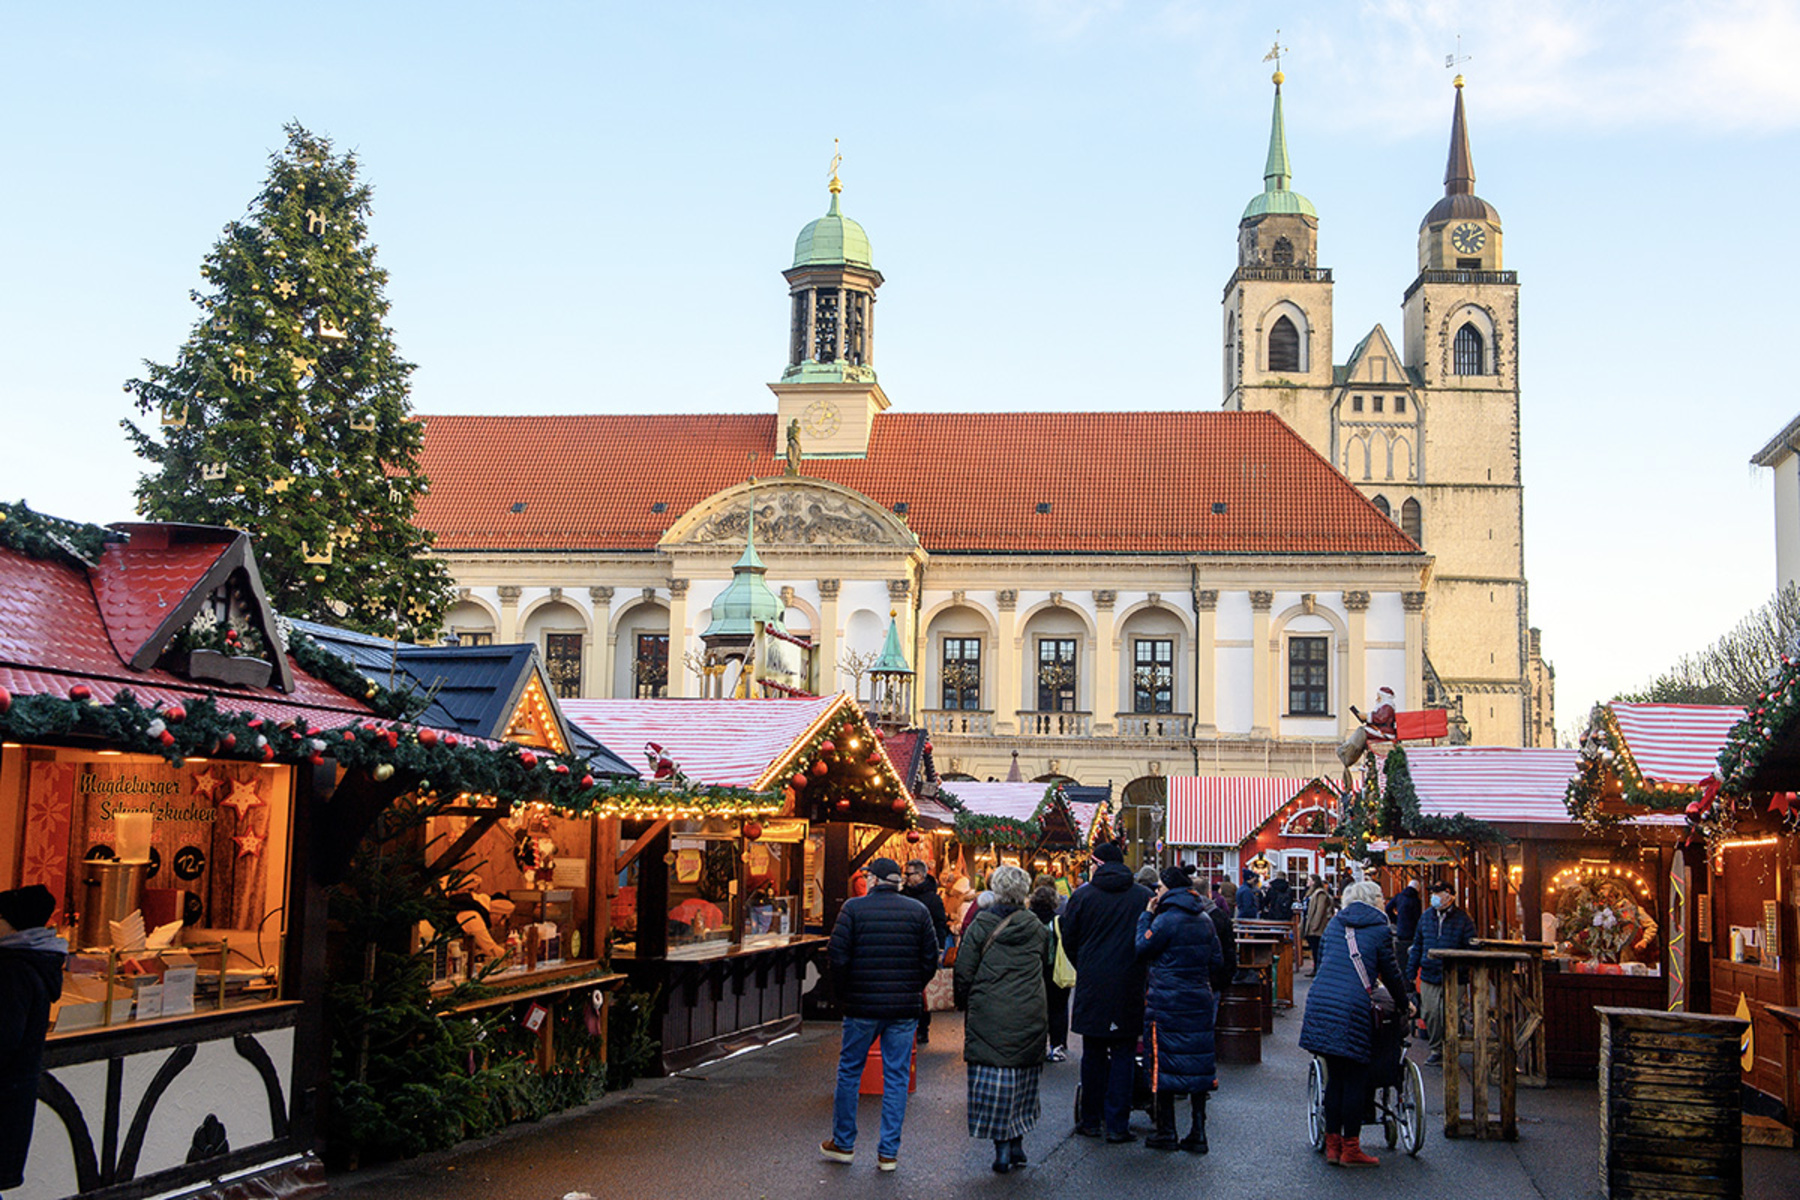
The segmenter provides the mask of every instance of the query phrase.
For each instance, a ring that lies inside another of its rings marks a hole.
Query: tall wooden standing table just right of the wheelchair
[[[1444,963],[1444,1137],[1501,1137],[1519,1141],[1517,970],[1537,963],[1532,950],[1433,950]],[[1471,1115],[1462,1114],[1462,993],[1463,972],[1474,1007],[1474,1070]],[[1489,1036],[1492,1033],[1496,1036]],[[1498,1049],[1498,1060],[1496,1060]],[[1487,1081],[1499,1072],[1499,1128],[1487,1112]]]

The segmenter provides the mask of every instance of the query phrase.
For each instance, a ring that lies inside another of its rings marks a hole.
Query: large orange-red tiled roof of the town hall
[[[419,524],[441,551],[648,551],[779,471],[774,414],[423,421]],[[927,551],[1420,552],[1265,412],[884,412],[868,457],[801,473],[905,502]]]

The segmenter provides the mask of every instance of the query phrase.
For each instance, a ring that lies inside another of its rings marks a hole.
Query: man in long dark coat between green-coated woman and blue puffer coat
[[[1093,865],[1089,882],[1062,910],[1062,952],[1075,964],[1069,1029],[1082,1034],[1082,1112],[1075,1132],[1130,1142],[1138,1141],[1130,1132],[1130,1092],[1143,1033],[1138,914],[1150,903],[1150,889],[1132,882],[1112,842],[1094,847]]]

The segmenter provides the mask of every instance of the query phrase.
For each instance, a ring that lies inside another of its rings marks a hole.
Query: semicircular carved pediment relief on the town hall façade
[[[918,538],[862,493],[823,480],[740,484],[707,497],[668,531],[664,547],[742,547],[756,506],[756,545],[913,549]]]

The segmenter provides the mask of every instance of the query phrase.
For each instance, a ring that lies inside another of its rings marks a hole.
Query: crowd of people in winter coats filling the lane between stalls
[[[1300,1045],[1327,1067],[1325,1159],[1377,1166],[1361,1132],[1379,1006],[1406,1020],[1422,1011],[1427,1061],[1440,1061],[1444,988],[1431,950],[1474,937],[1449,883],[1431,887],[1427,907],[1418,880],[1386,900],[1373,882],[1350,882],[1339,894],[1310,876],[1296,901],[1283,876],[1262,887],[1246,873],[1242,883],[1217,880],[1210,889],[1181,865],[1134,876],[1111,842],[1093,849],[1087,880],[1071,894],[1049,876],[999,865],[979,892],[959,880],[954,912],[925,862],[902,869],[877,858],[866,876],[866,894],[844,903],[832,930],[844,1034],[832,1137],[819,1150],[853,1160],[859,1085],[880,1043],[882,1171],[898,1166],[913,1045],[929,1036],[923,993],[941,966],[952,968],[954,1002],[967,1015],[968,1135],[994,1144],[995,1171],[1026,1166],[1024,1135],[1042,1115],[1042,1069],[1067,1058],[1069,1033],[1082,1034],[1076,1135],[1136,1142],[1130,1114],[1147,1085],[1154,1128],[1143,1144],[1204,1155],[1217,999],[1238,973],[1235,921],[1296,916],[1314,979]]]

